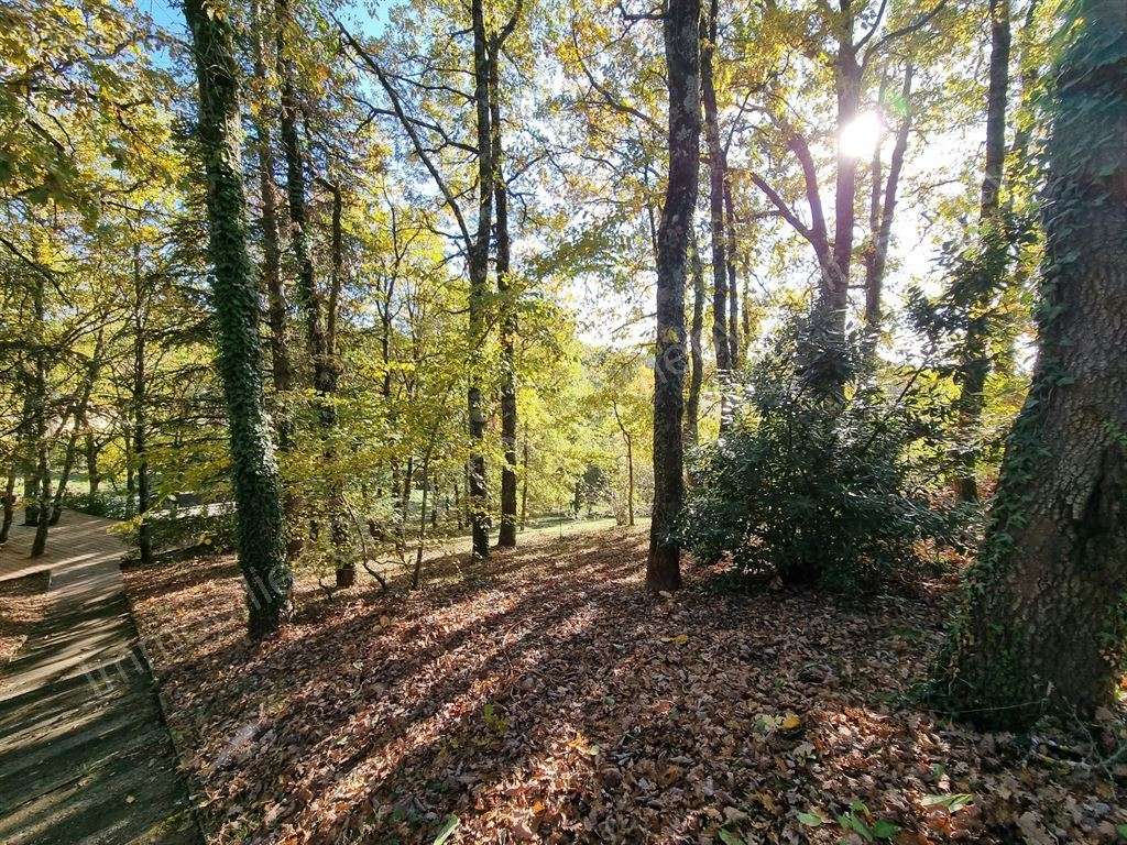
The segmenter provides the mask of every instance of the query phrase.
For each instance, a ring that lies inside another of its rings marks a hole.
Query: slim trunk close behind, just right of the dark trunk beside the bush
[[[716,104],[712,60],[716,55],[719,0],[711,0],[708,32],[701,45],[701,98],[704,105],[704,136],[708,141],[709,233],[712,244],[712,346],[716,348],[720,386],[720,428],[728,425],[728,390],[731,375],[731,344],[728,339],[728,259],[724,225],[725,150],[720,143],[720,118]],[[672,84],[672,83],[671,83]]]

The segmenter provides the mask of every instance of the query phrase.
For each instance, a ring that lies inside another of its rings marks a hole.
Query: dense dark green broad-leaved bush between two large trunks
[[[944,403],[919,372],[841,406],[814,397],[795,374],[801,331],[779,332],[736,424],[699,453],[680,531],[699,560],[730,555],[740,575],[870,588],[917,562],[922,541],[952,536],[934,484]]]

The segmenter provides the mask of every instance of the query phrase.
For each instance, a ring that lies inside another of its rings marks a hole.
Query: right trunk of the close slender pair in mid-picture
[[[500,294],[500,444],[504,465],[500,471],[500,526],[497,545],[516,546],[516,302],[509,284],[508,185],[504,174],[504,146],[500,131],[500,52],[489,52],[489,108],[492,128],[492,155],[497,208],[497,292]]]

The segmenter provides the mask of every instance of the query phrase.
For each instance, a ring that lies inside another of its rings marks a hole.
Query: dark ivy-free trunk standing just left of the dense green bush
[[[669,89],[669,175],[657,235],[657,339],[654,355],[654,513],[646,585],[681,587],[674,536],[684,498],[681,425],[685,376],[685,252],[696,205],[700,160],[700,0],[669,0],[663,20]]]

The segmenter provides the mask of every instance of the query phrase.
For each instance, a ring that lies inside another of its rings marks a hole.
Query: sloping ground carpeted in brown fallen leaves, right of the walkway
[[[690,566],[651,597],[645,552],[638,530],[549,536],[332,602],[307,578],[257,649],[231,557],[128,571],[208,842],[1049,845],[1127,824],[1127,768],[1075,735],[911,703],[949,582],[851,606]]]

